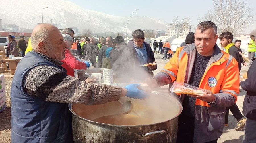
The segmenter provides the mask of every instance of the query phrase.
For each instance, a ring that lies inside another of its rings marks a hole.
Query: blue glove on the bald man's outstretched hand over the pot
[[[139,90],[137,87],[140,86],[141,84],[129,84],[127,86],[125,86],[125,88],[127,89],[127,94],[125,96],[130,97],[130,98],[134,98],[134,99],[143,99],[145,97],[147,97],[148,95],[146,94],[146,92]]]

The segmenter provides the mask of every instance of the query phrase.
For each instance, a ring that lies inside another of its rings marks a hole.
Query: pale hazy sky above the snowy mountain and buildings
[[[68,0],[80,5],[84,9],[95,10],[115,16],[130,16],[137,8],[133,16],[150,16],[158,18],[167,23],[172,23],[174,16],[179,19],[190,17],[192,27],[198,24],[197,17],[204,15],[213,6],[212,0],[161,0],[161,1],[139,1],[139,0]],[[245,0],[256,12],[254,0]],[[256,15],[255,15],[256,16]],[[256,18],[254,18],[256,20]],[[249,30],[256,29],[252,26]],[[193,30],[193,29],[191,29]]]

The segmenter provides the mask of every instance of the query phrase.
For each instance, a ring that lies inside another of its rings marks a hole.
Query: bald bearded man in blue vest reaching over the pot
[[[137,88],[140,84],[110,86],[67,75],[60,60],[70,48],[68,41],[51,24],[33,29],[33,50],[20,60],[11,86],[12,142],[73,142],[67,103],[95,105],[118,101],[121,96],[147,96]]]

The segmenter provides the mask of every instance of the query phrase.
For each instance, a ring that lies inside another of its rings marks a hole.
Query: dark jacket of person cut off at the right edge
[[[247,118],[256,120],[256,62],[254,61],[248,72],[245,81],[240,83],[243,90],[247,91],[243,101],[243,114]]]

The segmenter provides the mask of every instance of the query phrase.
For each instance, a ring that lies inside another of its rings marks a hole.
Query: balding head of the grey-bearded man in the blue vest
[[[51,24],[38,24],[33,29],[30,40],[34,51],[57,60],[65,58],[67,45],[57,27]]]

